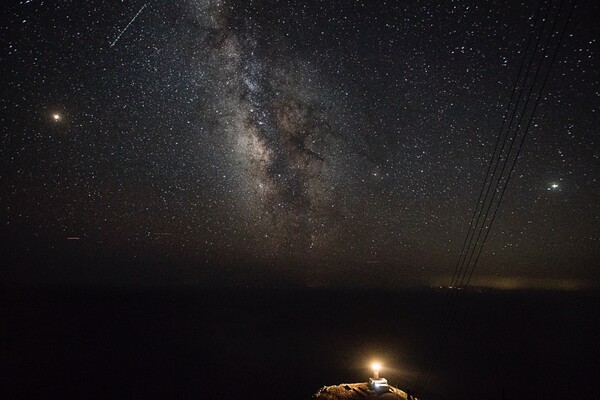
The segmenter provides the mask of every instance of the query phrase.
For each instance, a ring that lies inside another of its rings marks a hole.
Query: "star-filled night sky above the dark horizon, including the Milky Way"
[[[539,5],[3,4],[2,279],[448,285],[532,27],[545,72],[571,2]],[[573,11],[474,285],[600,284],[599,17]]]

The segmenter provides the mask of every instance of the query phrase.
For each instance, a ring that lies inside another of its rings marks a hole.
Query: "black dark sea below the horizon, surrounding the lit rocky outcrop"
[[[310,399],[381,375],[427,399],[600,399],[597,292],[8,288],[0,397]],[[433,362],[427,384],[416,387]]]

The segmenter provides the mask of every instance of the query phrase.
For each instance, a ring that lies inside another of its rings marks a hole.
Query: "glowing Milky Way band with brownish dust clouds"
[[[354,157],[333,130],[341,113],[332,95],[285,40],[262,43],[253,24],[236,21],[223,3],[191,7],[199,8],[216,129],[231,148],[243,218],[265,239],[259,245],[267,254],[322,257],[339,235],[336,187],[352,174]]]

